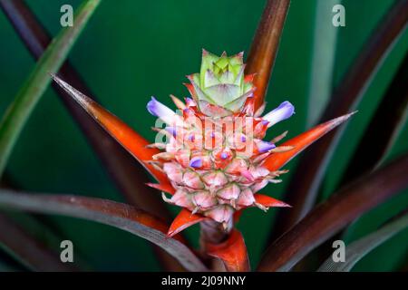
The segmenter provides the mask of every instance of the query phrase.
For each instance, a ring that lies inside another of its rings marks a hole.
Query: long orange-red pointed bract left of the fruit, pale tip
[[[104,130],[108,131],[115,140],[121,143],[123,148],[128,150],[136,160],[141,162],[141,165],[143,165],[155,179],[160,181],[160,184],[163,186],[170,185],[169,179],[167,179],[167,176],[163,172],[155,169],[151,164],[144,162],[146,160],[151,160],[151,156],[160,153],[160,150],[146,148],[146,146],[149,145],[149,142],[137,132],[133,131],[131,127],[121,121],[118,117],[103,109],[100,104],[75,90],[71,85],[63,82],[63,80],[57,76],[53,75],[53,80],[57,82],[65,92],[68,92],[73,99],[103,127]]]

